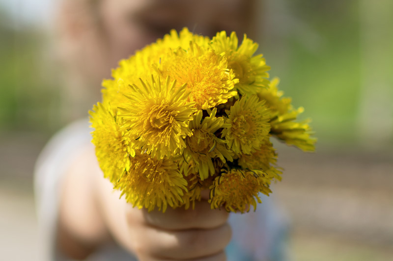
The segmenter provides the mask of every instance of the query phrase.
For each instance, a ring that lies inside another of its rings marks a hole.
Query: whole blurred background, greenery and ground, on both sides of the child
[[[34,241],[32,169],[67,122],[52,75],[50,17],[43,15],[52,4],[24,2],[0,4],[6,254],[22,235]],[[318,137],[315,154],[277,144],[286,171],[274,194],[292,220],[294,260],[393,260],[393,1],[267,0],[260,8],[259,51]],[[27,245],[25,257],[40,260],[34,243]]]

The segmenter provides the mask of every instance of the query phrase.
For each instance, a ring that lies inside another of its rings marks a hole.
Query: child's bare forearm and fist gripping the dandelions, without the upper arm
[[[102,173],[100,174],[102,175]],[[168,208],[165,213],[133,208],[100,176],[99,201],[110,233],[140,261],[225,261],[231,237],[228,213],[211,210],[208,195],[195,209]]]

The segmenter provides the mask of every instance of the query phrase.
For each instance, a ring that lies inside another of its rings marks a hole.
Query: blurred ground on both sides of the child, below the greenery
[[[3,260],[41,261],[32,168],[45,138],[0,138],[0,252]],[[277,145],[284,171],[276,199],[291,219],[295,261],[393,260],[392,153],[305,154]]]

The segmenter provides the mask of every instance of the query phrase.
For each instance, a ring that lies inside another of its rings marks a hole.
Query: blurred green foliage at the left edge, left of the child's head
[[[0,130],[53,132],[59,95],[43,62],[47,36],[0,13]]]

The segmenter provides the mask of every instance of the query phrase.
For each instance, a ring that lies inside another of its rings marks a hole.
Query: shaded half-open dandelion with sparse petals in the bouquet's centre
[[[187,147],[183,152],[183,168],[197,173],[201,180],[215,174],[213,160],[219,158],[225,163],[232,161],[232,153],[226,148],[225,141],[218,138],[215,132],[230,125],[225,124],[222,117],[216,118],[217,108],[210,112],[209,117],[202,119],[202,111],[194,115],[189,128],[193,135],[185,139]]]

